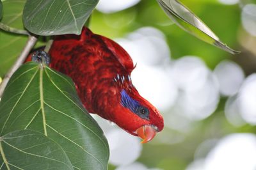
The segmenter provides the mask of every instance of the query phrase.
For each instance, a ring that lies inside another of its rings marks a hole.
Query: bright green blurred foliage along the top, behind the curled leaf
[[[227,6],[217,1],[195,0],[182,1],[182,3],[198,15],[224,43],[227,43],[232,49],[239,50],[236,36],[240,26],[238,5]],[[132,8],[111,14],[95,11],[90,27],[95,33],[116,38],[125,36],[143,26],[152,26],[163,31],[172,50],[172,58],[186,55],[199,56],[211,68],[214,68],[223,59],[232,58],[231,54],[197,40],[194,36],[172,24],[156,1],[144,0]]]

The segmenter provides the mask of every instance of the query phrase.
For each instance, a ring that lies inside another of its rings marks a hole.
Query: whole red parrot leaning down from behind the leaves
[[[81,35],[56,36],[49,54],[49,66],[72,78],[88,112],[138,135],[141,143],[163,130],[159,111],[132,85],[134,65],[120,45],[84,27]]]

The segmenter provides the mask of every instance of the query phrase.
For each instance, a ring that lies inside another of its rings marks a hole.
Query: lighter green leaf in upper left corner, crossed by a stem
[[[1,22],[17,29],[23,29],[22,11],[25,0],[3,1],[3,18]],[[24,48],[28,37],[13,35],[0,29],[0,76],[8,71]]]

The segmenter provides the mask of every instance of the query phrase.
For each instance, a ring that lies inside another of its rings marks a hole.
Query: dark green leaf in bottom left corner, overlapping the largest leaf
[[[74,169],[60,145],[31,130],[0,137],[0,150],[3,169]]]

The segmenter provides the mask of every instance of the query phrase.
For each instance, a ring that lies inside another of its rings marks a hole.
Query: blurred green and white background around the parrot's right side
[[[109,169],[256,169],[256,1],[183,0],[232,55],[189,35],[156,1],[100,0],[90,28],[120,43],[132,81],[161,111],[155,139],[95,119],[108,137]]]

